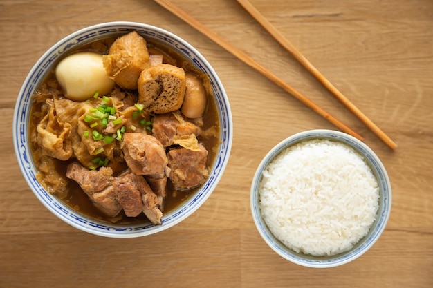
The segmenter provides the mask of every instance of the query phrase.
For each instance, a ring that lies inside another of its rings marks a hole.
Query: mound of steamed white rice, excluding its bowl
[[[332,256],[367,235],[378,211],[376,177],[349,146],[308,140],[268,164],[259,207],[275,238],[298,253]]]

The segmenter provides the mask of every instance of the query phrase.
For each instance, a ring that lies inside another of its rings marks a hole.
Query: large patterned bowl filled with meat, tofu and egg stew
[[[13,121],[37,198],[107,237],[146,236],[194,213],[232,146],[230,104],[212,66],[143,23],[101,23],[57,42],[30,70]]]

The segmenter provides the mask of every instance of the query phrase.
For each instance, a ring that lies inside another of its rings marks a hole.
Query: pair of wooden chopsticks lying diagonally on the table
[[[324,117],[326,120],[331,122],[334,126],[340,128],[344,133],[347,133],[349,135],[352,135],[353,137],[358,138],[359,140],[363,140],[362,136],[360,136],[358,133],[353,131],[351,128],[340,122],[340,120],[333,117],[331,114],[324,111],[320,106],[317,106],[314,102],[312,102],[310,99],[302,95],[300,92],[289,86],[288,84],[284,83],[281,79],[279,79],[277,76],[273,75],[269,70],[261,66],[259,63],[257,63],[255,60],[250,58],[248,55],[243,53],[241,50],[230,44],[228,41],[225,41],[223,38],[219,37],[219,35],[216,35],[212,30],[206,28],[201,24],[199,21],[188,15],[186,12],[175,6],[173,3],[167,0],[155,0],[156,3],[160,4],[160,6],[163,6],[170,12],[172,12],[177,17],[181,18],[186,23],[190,24],[190,26],[196,28],[196,30],[199,30],[203,35],[210,38],[212,41],[214,41],[216,44],[219,44],[222,48],[230,52],[232,55],[243,61],[245,64],[250,66],[251,68],[254,68],[257,70],[257,72],[261,73],[261,75],[264,75],[266,78],[268,78],[270,81],[273,81],[277,86],[285,90],[286,92],[290,93],[295,97],[296,99],[300,100],[300,102],[304,103],[306,106],[311,108],[315,113],[318,115]],[[365,116],[358,108],[356,108],[355,105],[353,105],[349,99],[344,97],[340,91],[335,88],[331,82],[329,82],[302,54],[299,52],[278,30],[270,24],[261,14],[260,12],[254,8],[250,4],[248,0],[237,0],[241,6],[245,10],[247,10],[252,17],[254,17],[260,24],[263,26],[277,41],[279,44],[281,44],[288,52],[297,59],[297,61],[300,61],[300,63],[308,70],[311,74],[313,74],[317,80],[319,80],[326,88],[328,88],[335,97],[337,97],[344,106],[346,106],[351,113],[356,115],[371,131],[373,131],[379,138],[382,140],[389,148],[394,150],[397,145],[385,134],[383,131],[376,126],[371,120]]]

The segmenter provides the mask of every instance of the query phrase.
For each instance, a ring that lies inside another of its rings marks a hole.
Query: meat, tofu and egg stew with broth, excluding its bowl
[[[91,218],[160,224],[209,177],[211,93],[204,73],[138,32],[77,48],[33,95],[37,180]]]

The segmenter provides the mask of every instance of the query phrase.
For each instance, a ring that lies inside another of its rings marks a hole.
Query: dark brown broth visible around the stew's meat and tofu
[[[106,53],[107,49],[113,43],[113,41],[116,39],[116,37],[111,37],[107,39],[100,39],[98,41],[92,42],[91,44],[87,44],[86,46],[83,46],[82,48],[79,48],[77,50],[74,50],[74,52],[82,52],[87,50],[92,50],[94,52],[102,52]],[[183,66],[183,63],[186,61],[178,55],[173,50],[166,48],[164,46],[161,46],[160,44],[147,41],[147,46],[149,48],[149,54],[156,55],[156,54],[162,54],[163,55],[163,61],[168,64],[172,64],[175,66]],[[185,68],[185,67],[183,67]],[[53,68],[53,71],[55,68]],[[187,71],[187,69],[185,69]],[[198,71],[192,71],[199,75],[200,73]],[[203,74],[203,73],[202,73]],[[202,75],[204,77],[204,75]],[[45,81],[48,81],[48,79],[52,79],[54,77],[54,73],[50,73],[48,75],[47,79]],[[214,102],[214,98],[210,93],[208,93],[208,105],[205,109],[205,113],[203,116],[203,126],[201,127],[203,131],[207,130],[208,128],[215,127],[215,131],[217,132],[216,135],[212,137],[203,137],[199,135],[197,138],[199,142],[201,142],[205,148],[208,150],[208,166],[212,167],[212,163],[214,163],[215,157],[216,157],[216,150],[219,146],[219,118],[218,118],[218,112],[216,109],[216,104]],[[41,104],[36,104],[36,102],[33,104],[31,113],[30,113],[30,134],[36,133],[36,127],[37,124],[40,122],[40,117],[37,117],[37,112],[40,111]],[[36,155],[39,146],[37,144],[32,143],[32,155]],[[38,166],[38,157],[34,157],[35,164]],[[66,167],[70,162],[72,162],[74,159],[68,160],[68,161],[61,161],[55,159],[55,167],[53,169],[56,169],[57,172],[64,176],[66,178]],[[126,165],[125,165],[126,168]],[[86,193],[82,191],[80,186],[74,181],[66,178],[68,180],[68,195],[62,199],[62,201],[67,204],[72,209],[79,211],[80,213],[89,216],[90,218],[94,218],[97,220],[101,220],[104,222],[113,222],[113,219],[107,217],[103,213],[101,213],[98,209],[96,209],[89,198],[87,197]],[[174,191],[171,182],[167,181],[167,197],[165,198],[165,209],[163,211],[163,214],[169,213],[170,211],[173,211],[177,207],[179,207],[183,202],[185,202],[188,198],[190,198],[191,195],[193,195],[198,188],[191,189],[189,191]],[[119,219],[120,218],[120,219]],[[125,215],[125,213],[121,213],[120,216],[116,217],[116,222],[121,224],[127,224],[127,223],[138,223],[138,222],[145,222],[147,220],[146,216],[143,213],[140,213],[135,218],[129,218]]]

